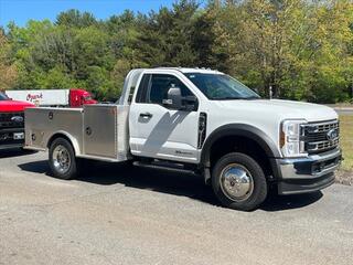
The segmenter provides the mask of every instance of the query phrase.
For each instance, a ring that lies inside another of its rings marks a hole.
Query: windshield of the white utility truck
[[[185,75],[208,99],[260,98],[250,88],[228,75],[204,73],[185,73]]]

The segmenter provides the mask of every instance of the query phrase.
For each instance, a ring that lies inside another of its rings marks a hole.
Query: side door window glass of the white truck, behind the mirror
[[[152,74],[146,103],[162,104],[162,100],[167,98],[169,88],[179,87],[182,96],[191,96],[190,89],[175,76],[167,74]]]

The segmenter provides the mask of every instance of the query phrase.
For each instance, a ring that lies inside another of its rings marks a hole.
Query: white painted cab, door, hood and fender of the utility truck
[[[200,113],[207,114],[206,140],[214,130],[222,126],[244,124],[268,136],[278,148],[279,153],[279,130],[285,119],[304,119],[311,123],[338,118],[336,113],[330,107],[302,102],[210,100],[183,74],[189,72],[221,74],[197,68],[154,68],[140,72],[136,87],[145,73],[174,75],[197,97],[199,109],[197,112],[170,110],[158,104],[136,103],[136,88],[129,114],[129,142],[132,155],[199,163],[202,151],[197,149]],[[150,113],[152,117],[140,118],[139,115],[142,113]]]

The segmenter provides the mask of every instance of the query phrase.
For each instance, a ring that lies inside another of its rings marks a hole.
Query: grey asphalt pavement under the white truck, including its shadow
[[[1,151],[1,265],[352,264],[352,187],[245,213],[199,178],[95,165],[61,181],[45,159]]]

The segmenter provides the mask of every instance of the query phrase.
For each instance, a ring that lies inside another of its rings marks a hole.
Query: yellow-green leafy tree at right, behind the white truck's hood
[[[346,53],[352,38],[352,2],[215,3],[214,53],[221,50],[227,54],[231,74],[267,96],[271,87],[275,97],[313,102],[345,98],[342,76],[352,68]]]

